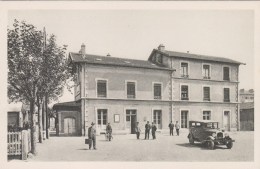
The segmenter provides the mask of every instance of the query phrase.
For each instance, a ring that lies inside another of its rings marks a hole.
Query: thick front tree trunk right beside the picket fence
[[[31,118],[31,152],[32,154],[37,154],[36,143],[37,143],[37,133],[36,124],[34,120],[34,101],[30,101],[30,118]]]

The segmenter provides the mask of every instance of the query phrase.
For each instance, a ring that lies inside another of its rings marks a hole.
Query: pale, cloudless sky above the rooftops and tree
[[[166,50],[220,56],[246,63],[239,88],[254,88],[254,13],[250,10],[10,10],[8,25],[24,20],[55,34],[78,52],[147,60]],[[68,91],[59,102],[72,101]]]

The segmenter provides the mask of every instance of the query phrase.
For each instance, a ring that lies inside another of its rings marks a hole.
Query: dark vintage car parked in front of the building
[[[231,149],[235,142],[228,133],[219,129],[218,122],[209,120],[189,121],[188,139],[190,144],[194,144],[195,141],[201,142],[209,149],[214,149],[215,145],[226,145]]]

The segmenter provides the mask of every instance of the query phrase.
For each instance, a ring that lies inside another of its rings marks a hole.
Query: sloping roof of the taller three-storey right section
[[[228,59],[228,58],[223,58],[223,57],[183,53],[183,52],[168,51],[168,50],[160,51],[158,49],[154,49],[153,52],[154,51],[166,54],[169,57],[189,58],[189,59],[196,59],[196,60],[207,60],[207,61],[225,62],[225,63],[233,63],[233,64],[245,64],[245,63],[242,63],[242,62],[238,62],[238,61]]]

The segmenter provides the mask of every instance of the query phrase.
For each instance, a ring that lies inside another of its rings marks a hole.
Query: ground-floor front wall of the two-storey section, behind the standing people
[[[162,130],[168,129],[170,121],[170,104],[169,102],[161,101],[123,101],[123,100],[88,100],[88,118],[91,119],[88,122],[88,126],[92,122],[97,124],[97,109],[107,109],[108,116],[107,122],[109,122],[116,133],[130,133],[130,130],[126,126],[126,110],[135,109],[137,112],[137,121],[144,132],[144,126],[147,121],[152,122],[153,110],[162,111]],[[114,115],[119,114],[120,122],[114,121]],[[160,129],[159,129],[160,130]],[[98,130],[102,132],[104,130]]]

